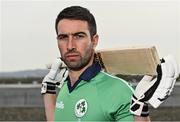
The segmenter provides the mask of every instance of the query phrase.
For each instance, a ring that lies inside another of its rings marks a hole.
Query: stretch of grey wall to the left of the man
[[[1,85],[0,107],[43,107],[41,85]]]

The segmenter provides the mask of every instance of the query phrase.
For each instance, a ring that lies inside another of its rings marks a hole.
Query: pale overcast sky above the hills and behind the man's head
[[[45,68],[59,56],[54,29],[67,6],[87,7],[95,16],[97,49],[156,46],[159,56],[180,60],[178,0],[1,0],[0,72]]]

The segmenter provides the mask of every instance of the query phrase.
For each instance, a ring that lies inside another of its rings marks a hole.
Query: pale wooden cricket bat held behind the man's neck
[[[124,75],[156,75],[160,64],[154,46],[99,50],[96,58],[106,72]]]

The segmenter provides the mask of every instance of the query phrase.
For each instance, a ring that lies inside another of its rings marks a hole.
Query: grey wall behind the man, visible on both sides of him
[[[43,107],[40,84],[0,85],[0,107]],[[176,84],[171,96],[161,107],[180,106],[180,84]]]

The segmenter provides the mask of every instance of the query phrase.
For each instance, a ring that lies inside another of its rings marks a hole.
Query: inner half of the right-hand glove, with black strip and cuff
[[[161,78],[161,67],[158,65],[158,78],[153,79],[152,76],[145,75],[136,86],[132,96],[130,111],[137,116],[146,117],[149,115],[148,100],[152,97]]]

